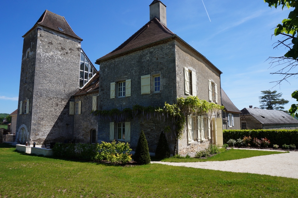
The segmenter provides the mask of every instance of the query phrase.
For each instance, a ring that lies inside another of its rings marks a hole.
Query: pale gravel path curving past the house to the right
[[[268,150],[272,151],[272,150]],[[151,162],[172,166],[204,168],[218,171],[256,173],[298,179],[298,152],[263,155],[240,160],[211,162]]]

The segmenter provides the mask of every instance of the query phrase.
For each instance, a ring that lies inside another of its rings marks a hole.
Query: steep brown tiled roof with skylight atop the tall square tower
[[[58,14],[52,13],[49,10],[44,11],[44,13],[41,15],[41,17],[35,23],[35,25],[24,36],[26,36],[32,29],[34,29],[38,25],[42,26],[42,27],[49,28],[49,29],[54,30],[55,32],[58,32],[61,34],[71,36],[73,38],[77,38],[80,41],[83,41],[83,39],[81,39],[74,33],[72,28],[69,26],[69,24],[65,20],[64,16],[60,16]],[[63,31],[59,30],[58,27],[62,28]]]

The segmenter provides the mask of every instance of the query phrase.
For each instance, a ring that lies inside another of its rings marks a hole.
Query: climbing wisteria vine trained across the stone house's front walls
[[[111,110],[96,110],[92,112],[98,115],[101,119],[115,122],[123,122],[129,119],[147,119],[152,116],[157,117],[158,120],[172,121],[172,126],[167,126],[165,131],[173,131],[176,136],[174,146],[174,154],[176,152],[176,145],[178,139],[181,137],[186,124],[186,117],[188,115],[207,115],[211,117],[212,114],[218,113],[224,109],[215,103],[209,103],[206,100],[200,100],[197,96],[187,96],[186,98],[177,98],[177,103],[169,104],[164,103],[163,107],[141,106],[134,105],[132,109],[125,108],[122,111],[119,109]]]

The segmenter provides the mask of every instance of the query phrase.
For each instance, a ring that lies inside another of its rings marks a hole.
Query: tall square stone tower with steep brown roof
[[[23,37],[16,141],[71,139],[69,101],[79,88],[82,39],[48,10]]]

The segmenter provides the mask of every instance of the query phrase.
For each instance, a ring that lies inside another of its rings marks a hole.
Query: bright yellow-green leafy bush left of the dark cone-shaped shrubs
[[[131,154],[130,148],[128,143],[118,142],[114,140],[111,143],[102,142],[99,145],[99,160],[107,160],[111,163],[122,163],[126,164],[131,161]]]

